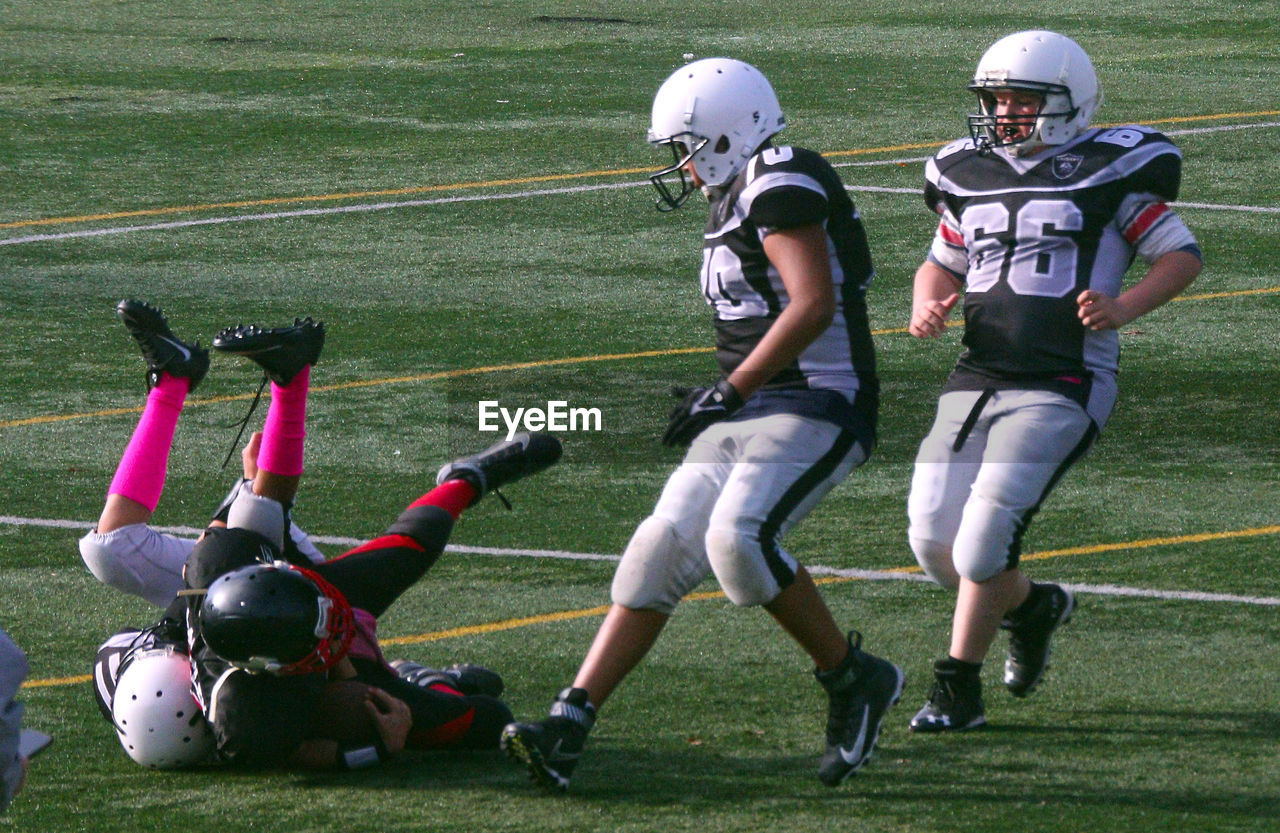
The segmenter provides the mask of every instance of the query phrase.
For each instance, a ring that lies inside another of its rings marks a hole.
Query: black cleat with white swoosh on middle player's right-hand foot
[[[818,779],[836,787],[870,760],[884,713],[902,697],[902,669],[861,650],[863,637],[851,633],[849,659],[829,672],[814,672],[827,690],[827,749]]]

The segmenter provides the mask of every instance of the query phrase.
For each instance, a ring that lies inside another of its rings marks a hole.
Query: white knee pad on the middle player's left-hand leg
[[[611,598],[625,608],[671,615],[708,572],[700,548],[682,540],[666,518],[650,516],[640,522],[622,553]]]

